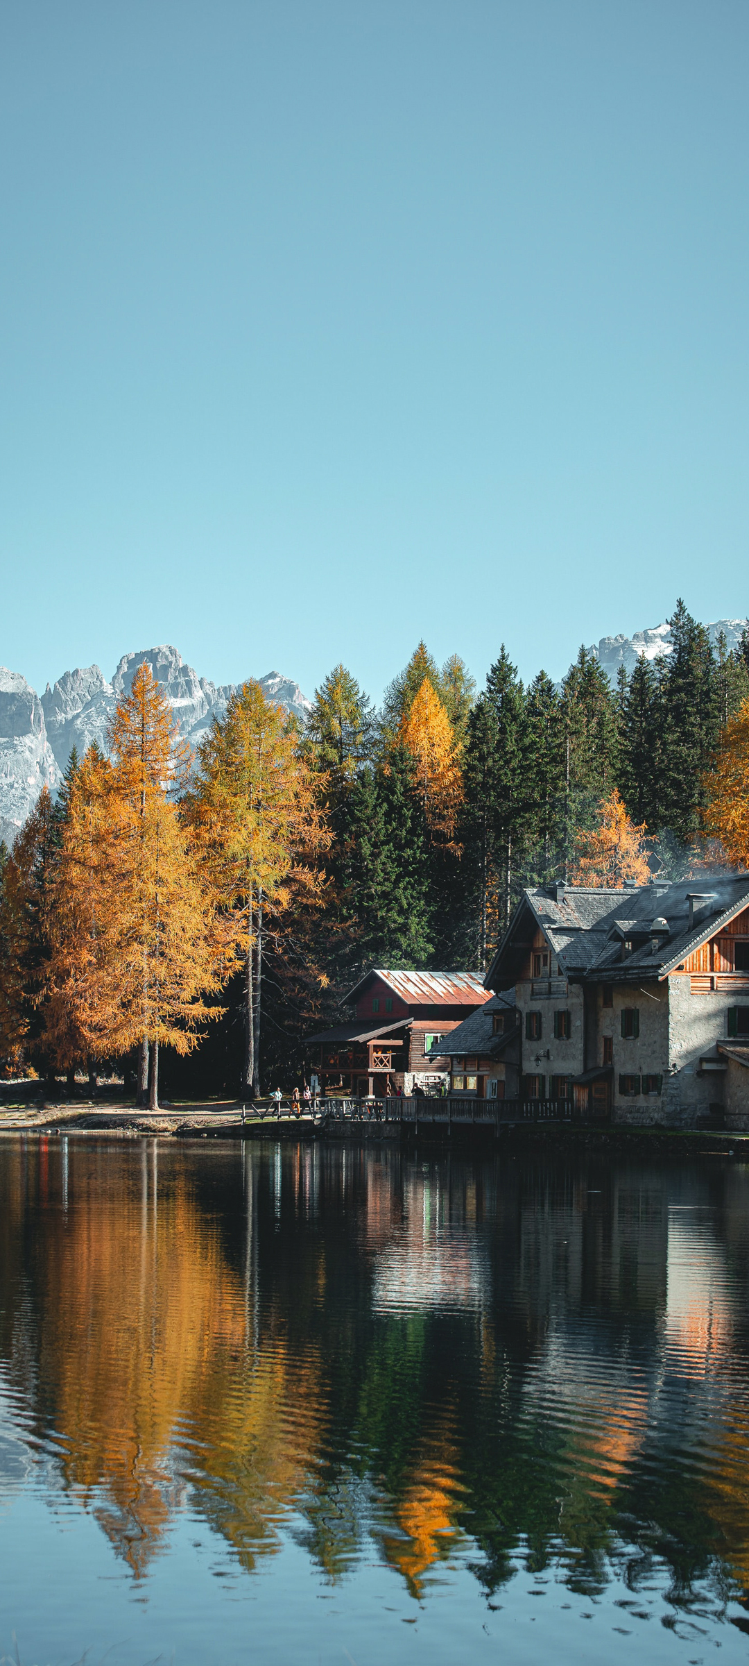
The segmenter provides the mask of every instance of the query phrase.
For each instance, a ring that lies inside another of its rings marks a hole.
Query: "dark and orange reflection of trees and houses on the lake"
[[[290,1523],[414,1594],[468,1544],[596,1589],[623,1541],[749,1588],[736,1170],[70,1141],[63,1206],[62,1160],[0,1165],[0,1344],[136,1574],[190,1488],[246,1568]]]

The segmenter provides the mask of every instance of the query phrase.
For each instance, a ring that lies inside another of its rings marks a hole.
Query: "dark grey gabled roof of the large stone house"
[[[523,893],[504,938],[486,973],[488,988],[504,988],[516,981],[521,961],[529,953],[541,928],[559,961],[563,976],[588,981],[621,981],[629,978],[667,978],[687,955],[716,936],[722,926],[749,906],[749,873],[732,870],[702,881],[652,881],[621,891],[568,886],[534,886]],[[691,900],[694,918],[689,926]],[[657,941],[651,936],[656,920]],[[623,938],[631,936],[632,951],[621,958]]]

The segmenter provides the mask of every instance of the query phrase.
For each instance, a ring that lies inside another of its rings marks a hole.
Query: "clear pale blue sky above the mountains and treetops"
[[[0,663],[749,608],[746,0],[5,0]]]

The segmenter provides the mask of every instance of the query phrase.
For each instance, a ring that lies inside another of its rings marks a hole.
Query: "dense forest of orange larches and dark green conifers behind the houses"
[[[155,1105],[161,1048],[173,1093],[266,1091],[368,966],[484,970],[524,885],[746,860],[749,633],[669,625],[616,688],[501,646],[478,691],[419,643],[381,710],[338,665],[301,728],[250,681],[195,756],[141,666],[0,848],[7,1071],[125,1060]]]

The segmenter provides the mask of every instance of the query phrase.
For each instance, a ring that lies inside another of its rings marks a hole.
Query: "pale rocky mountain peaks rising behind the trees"
[[[707,626],[717,643],[721,631],[729,648],[736,648],[746,620],[716,620]],[[667,625],[636,631],[634,636],[601,636],[591,646],[609,681],[616,685],[619,666],[634,668],[641,653],[647,660],[671,653]],[[107,751],[107,730],[118,696],[130,688],[138,665],[148,661],[153,676],[180,720],[181,735],[195,746],[211,718],[221,716],[236,685],[216,686],[185,665],[176,648],[143,648],[125,653],[108,683],[98,665],[65,671],[53,688],[47,683],[37,695],[20,671],[0,666],[0,838],[10,845],[47,785],[55,791],[62,781],[73,746],[83,755],[92,741]],[[311,701],[298,683],[268,671],[260,678],[270,700],[305,718]]]

